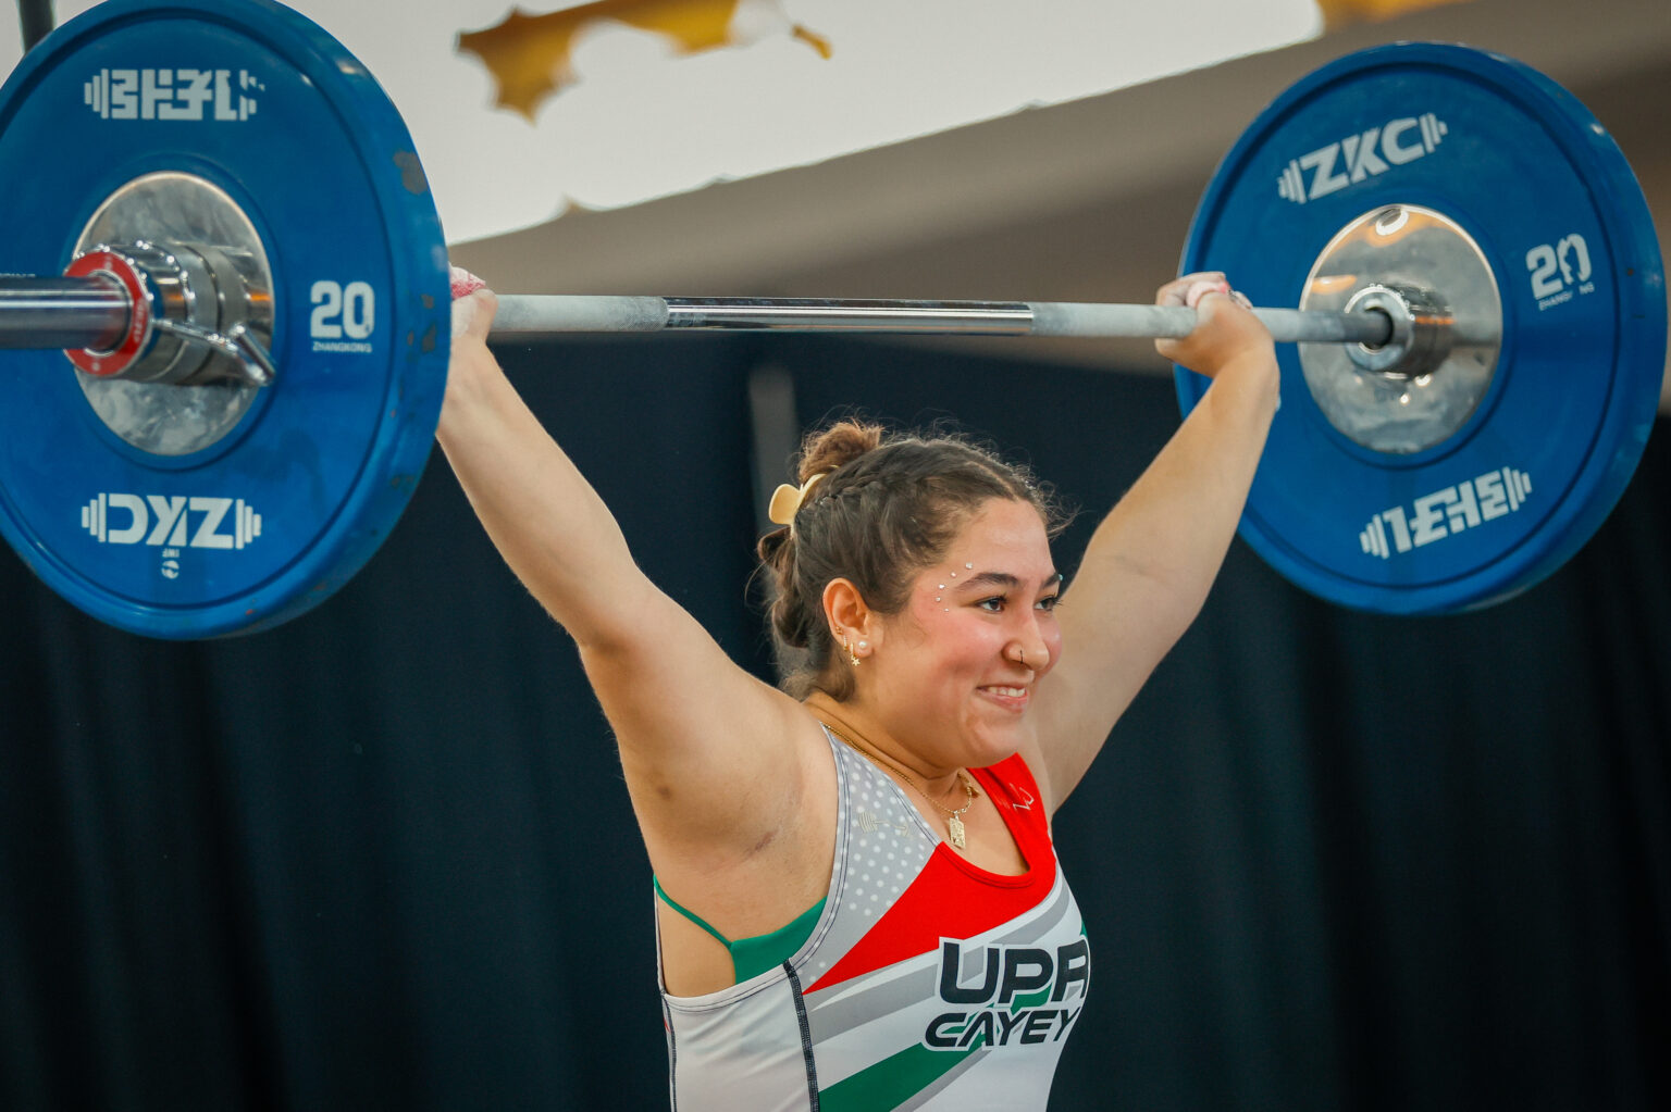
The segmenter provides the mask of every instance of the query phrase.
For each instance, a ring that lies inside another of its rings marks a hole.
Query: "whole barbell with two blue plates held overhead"
[[[147,636],[249,633],[328,598],[404,509],[446,381],[446,242],[376,80],[271,0],[109,0],[0,88],[0,165],[10,544]],[[1648,205],[1596,119],[1519,62],[1400,43],[1302,78],[1220,164],[1181,269],[1297,304],[1255,311],[1283,344],[1283,406],[1242,536],[1340,604],[1449,613],[1526,589],[1599,528],[1653,426]],[[505,294],[491,339],[1191,324],[1155,306]],[[1176,384],[1188,412],[1206,382]]]

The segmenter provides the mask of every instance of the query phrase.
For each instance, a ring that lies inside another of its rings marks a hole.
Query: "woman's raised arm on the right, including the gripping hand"
[[[1195,621],[1235,536],[1277,412],[1277,354],[1223,274],[1168,282],[1160,304],[1200,324],[1160,354],[1213,379],[1200,404],[1096,528],[1058,611],[1061,663],[1041,680],[1039,760],[1054,808],[1115,721]]]

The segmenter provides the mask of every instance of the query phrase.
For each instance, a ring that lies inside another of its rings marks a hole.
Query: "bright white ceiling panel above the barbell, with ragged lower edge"
[[[495,107],[495,75],[460,43],[520,12],[515,0],[287,2],[399,105],[453,242],[1078,100],[1322,28],[1313,0],[1201,0],[1196,13],[1210,18],[1188,35],[1156,3],[688,0],[720,22],[729,13],[730,42],[682,55],[673,37],[618,18],[563,20],[597,5],[530,0],[526,15],[571,38],[561,90],[528,119]],[[60,23],[92,7],[53,3]],[[0,73],[20,50],[7,15]]]

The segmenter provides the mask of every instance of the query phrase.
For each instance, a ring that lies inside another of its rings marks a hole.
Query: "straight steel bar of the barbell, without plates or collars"
[[[1253,314],[1283,344],[1374,347],[1392,339],[1392,322],[1380,312],[1255,309]],[[1195,311],[1175,306],[505,294],[493,337],[735,329],[1165,339],[1188,336],[1193,327]],[[107,282],[0,277],[0,349],[104,351],[125,329],[127,294]],[[1454,322],[1452,339],[1470,342],[1470,332]]]

